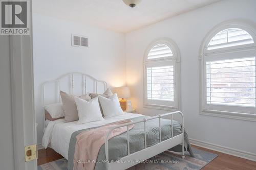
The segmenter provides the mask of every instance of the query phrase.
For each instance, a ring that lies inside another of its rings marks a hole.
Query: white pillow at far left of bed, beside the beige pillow
[[[63,104],[62,103],[55,103],[51,105],[46,105],[45,110],[50,113],[52,118],[59,118],[64,116],[63,112]]]

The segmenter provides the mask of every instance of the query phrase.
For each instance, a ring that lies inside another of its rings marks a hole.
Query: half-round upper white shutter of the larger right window
[[[207,50],[254,43],[251,35],[238,28],[230,28],[216,34],[209,42]]]

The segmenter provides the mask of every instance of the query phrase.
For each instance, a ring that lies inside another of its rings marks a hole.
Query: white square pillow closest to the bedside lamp
[[[98,95],[98,98],[103,110],[104,118],[124,114],[121,109],[116,93],[110,96],[109,98],[105,98],[101,95]]]

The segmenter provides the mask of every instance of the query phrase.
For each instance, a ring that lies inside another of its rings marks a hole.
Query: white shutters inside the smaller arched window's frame
[[[170,47],[155,45],[147,54],[145,63],[146,105],[176,108],[176,60]]]

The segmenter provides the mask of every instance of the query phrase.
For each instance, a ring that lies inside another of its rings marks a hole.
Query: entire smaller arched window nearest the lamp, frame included
[[[144,107],[179,109],[179,51],[167,38],[151,43],[144,56]]]

